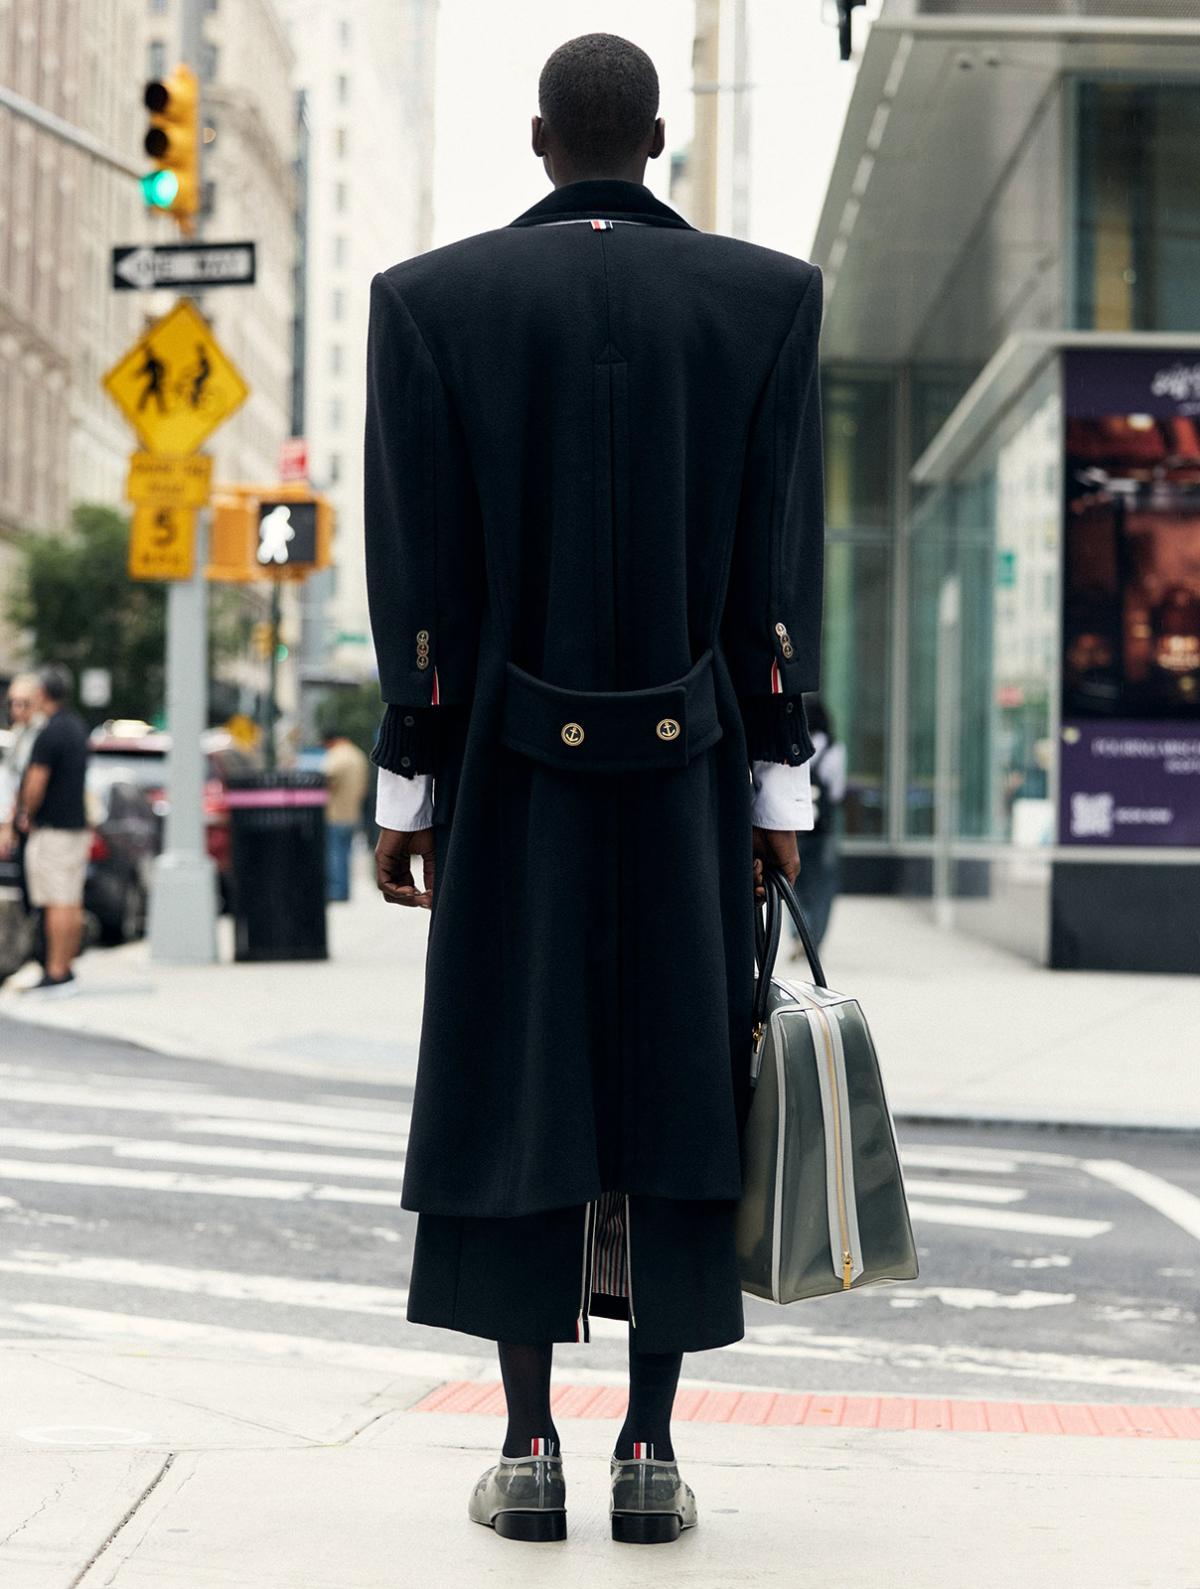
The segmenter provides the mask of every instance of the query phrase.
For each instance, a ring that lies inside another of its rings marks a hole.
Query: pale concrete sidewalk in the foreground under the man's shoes
[[[617,1414],[558,1416],[569,1538],[467,1522],[502,1422],[412,1411],[401,1373],[202,1351],[0,1346],[0,1581],[13,1589],[445,1589],[668,1573],[703,1589],[1195,1589],[1200,1440],[675,1425],[699,1527],[617,1546]],[[475,1371],[494,1373],[475,1359]],[[836,1401],[838,1398],[828,1398]],[[950,1422],[952,1403],[941,1422]],[[1194,1417],[1200,1433],[1200,1417]],[[1189,1425],[1190,1427],[1190,1425]]]

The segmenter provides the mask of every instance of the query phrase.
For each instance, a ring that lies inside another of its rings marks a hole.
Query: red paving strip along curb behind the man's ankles
[[[559,1386],[559,1417],[621,1417],[615,1386]],[[413,1413],[504,1414],[504,1386],[451,1379]],[[955,1435],[1090,1435],[1098,1440],[1200,1440],[1200,1406],[1089,1406],[1082,1401],[960,1401],[908,1395],[793,1395],[784,1390],[680,1390],[674,1417],[696,1424],[803,1429],[938,1429]]]

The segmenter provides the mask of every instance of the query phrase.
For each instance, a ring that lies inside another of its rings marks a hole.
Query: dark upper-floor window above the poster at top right
[[[1074,324],[1200,331],[1200,87],[1078,84]]]

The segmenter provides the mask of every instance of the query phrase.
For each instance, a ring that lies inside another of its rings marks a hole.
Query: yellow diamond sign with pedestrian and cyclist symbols
[[[100,385],[149,453],[194,453],[250,396],[191,299],[143,332]]]

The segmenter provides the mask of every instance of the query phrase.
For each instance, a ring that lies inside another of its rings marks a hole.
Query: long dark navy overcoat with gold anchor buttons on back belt
[[[736,1198],[750,761],[811,752],[815,265],[634,183],[372,284],[375,756],[431,769],[404,1206]]]

